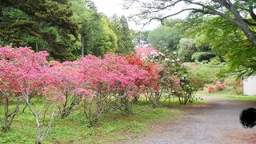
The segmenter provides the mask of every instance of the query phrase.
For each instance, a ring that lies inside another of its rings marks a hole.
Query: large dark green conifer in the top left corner
[[[74,59],[77,25],[69,7],[66,0],[0,1],[0,44],[36,49],[39,43],[55,59]]]

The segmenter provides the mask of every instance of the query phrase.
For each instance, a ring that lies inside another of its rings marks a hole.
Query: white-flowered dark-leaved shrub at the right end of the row
[[[175,52],[169,53],[166,51],[165,54],[157,52],[150,55],[148,61],[158,65],[160,74],[156,83],[158,92],[154,93],[153,90],[148,89],[150,91],[148,93],[150,101],[153,103],[157,104],[162,94],[166,99],[169,99],[169,102],[171,96],[177,97],[181,104],[186,104],[188,101],[193,102],[195,92],[205,84],[202,79],[188,73],[187,67],[182,65]]]

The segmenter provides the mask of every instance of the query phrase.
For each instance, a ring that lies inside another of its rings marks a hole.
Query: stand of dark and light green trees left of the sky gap
[[[132,31],[124,16],[107,18],[92,1],[1,1],[0,45],[47,50],[59,61],[82,54],[129,54]]]

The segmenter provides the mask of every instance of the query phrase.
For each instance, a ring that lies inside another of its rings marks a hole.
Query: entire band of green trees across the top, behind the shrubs
[[[134,3],[133,0],[126,1]],[[167,4],[157,2],[147,7],[145,3],[138,21],[158,19],[162,25],[155,30],[135,31],[129,29],[125,16],[108,18],[98,12],[91,0],[2,0],[0,45],[46,50],[50,59],[61,62],[86,54],[99,57],[103,54],[126,55],[132,53],[136,46],[153,46],[161,51],[177,52],[182,62],[210,62],[214,58],[228,64],[223,70],[225,72],[255,73],[254,43],[241,26],[218,13],[214,15],[218,7],[211,11],[192,10],[183,19],[161,18],[150,12],[151,8],[161,10],[161,6],[164,8]],[[246,22],[244,24],[255,37],[254,4],[254,1],[235,1],[234,8],[240,12]],[[218,5],[225,6],[222,3]],[[234,17],[232,10],[225,10],[223,14]]]

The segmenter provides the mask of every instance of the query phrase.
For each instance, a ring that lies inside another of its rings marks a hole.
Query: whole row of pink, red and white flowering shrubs
[[[151,93],[148,98],[157,106],[163,93],[173,93],[182,86],[181,74],[176,72],[179,63],[153,47],[137,48],[136,54],[126,57],[87,55],[62,63],[48,62],[48,55],[27,47],[0,47],[0,101],[5,108],[11,99],[17,103],[14,111],[6,112],[12,115],[1,120],[2,127],[10,129],[20,102],[25,102],[37,124],[36,143],[46,137],[54,118],[59,114],[66,118],[77,106],[83,105],[90,125],[95,125],[107,109],[130,112],[141,92]],[[145,57],[149,59],[142,60]],[[35,98],[43,102],[40,110],[31,105]],[[42,123],[46,114],[51,114],[50,122]]]

